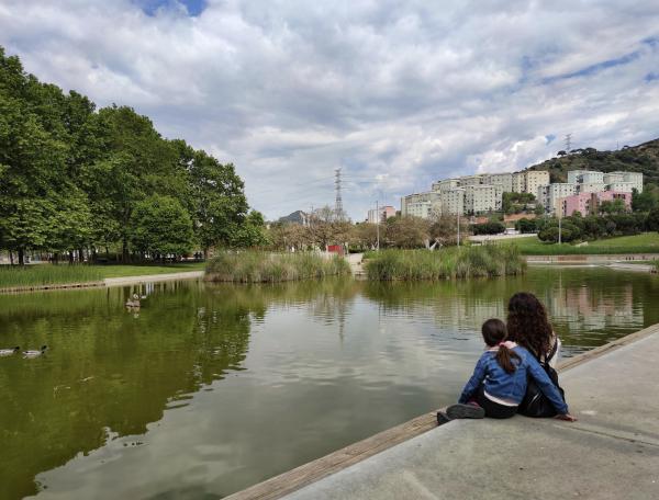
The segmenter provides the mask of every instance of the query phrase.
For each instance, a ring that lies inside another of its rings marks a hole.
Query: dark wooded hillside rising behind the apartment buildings
[[[569,170],[627,170],[643,172],[644,183],[659,184],[659,139],[624,146],[617,151],[597,151],[594,148],[573,149],[526,170],[548,170],[551,182],[566,182]]]

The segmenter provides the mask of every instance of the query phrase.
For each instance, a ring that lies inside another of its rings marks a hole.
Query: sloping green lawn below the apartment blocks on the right
[[[659,232],[619,236],[577,247],[570,243],[546,243],[537,238],[516,238],[499,246],[515,246],[523,255],[592,255],[612,253],[659,253]]]

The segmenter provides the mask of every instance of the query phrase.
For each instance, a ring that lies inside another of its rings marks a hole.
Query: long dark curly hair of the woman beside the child
[[[509,340],[528,349],[538,359],[549,353],[554,330],[545,306],[535,295],[520,292],[511,297],[506,326]]]

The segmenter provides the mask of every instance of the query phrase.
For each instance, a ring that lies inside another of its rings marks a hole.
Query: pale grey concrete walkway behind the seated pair
[[[286,498],[659,498],[659,328],[560,378],[576,423],[453,421]]]

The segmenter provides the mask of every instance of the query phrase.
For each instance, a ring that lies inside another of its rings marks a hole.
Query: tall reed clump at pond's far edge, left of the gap
[[[212,259],[206,281],[232,283],[276,283],[350,274],[350,265],[339,257],[324,259],[313,253],[241,252]]]

